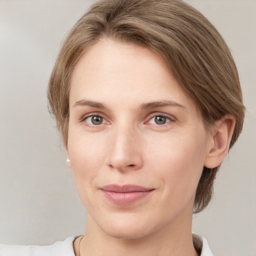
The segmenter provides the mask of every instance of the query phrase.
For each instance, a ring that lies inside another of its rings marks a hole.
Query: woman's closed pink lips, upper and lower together
[[[114,204],[127,205],[146,197],[154,190],[138,185],[110,184],[100,187],[104,196]]]

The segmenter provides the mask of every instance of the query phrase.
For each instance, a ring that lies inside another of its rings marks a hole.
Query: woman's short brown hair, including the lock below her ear
[[[62,44],[47,91],[49,109],[64,144],[72,70],[81,55],[102,37],[142,45],[162,56],[196,102],[206,127],[227,113],[235,118],[230,147],[234,144],[244,118],[234,60],[215,27],[181,0],[98,0],[77,21]],[[210,201],[218,169],[204,167],[194,212]]]

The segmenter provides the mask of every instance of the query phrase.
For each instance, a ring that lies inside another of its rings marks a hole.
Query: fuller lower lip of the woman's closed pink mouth
[[[131,203],[134,203],[135,201],[138,201],[147,195],[149,195],[152,190],[148,191],[134,191],[134,192],[126,192],[126,193],[119,193],[119,192],[112,192],[112,191],[106,191],[102,190],[104,193],[104,196],[110,200],[114,204],[120,204],[120,205],[128,205]]]

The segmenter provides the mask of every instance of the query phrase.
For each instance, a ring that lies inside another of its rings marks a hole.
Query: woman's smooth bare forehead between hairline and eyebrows
[[[110,39],[98,41],[76,64],[70,87],[70,104],[89,100],[121,100],[143,104],[175,100],[194,107],[165,61],[152,50]]]

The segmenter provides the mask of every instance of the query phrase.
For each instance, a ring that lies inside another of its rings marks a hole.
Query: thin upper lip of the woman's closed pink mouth
[[[125,185],[117,185],[117,184],[109,184],[100,187],[100,189],[109,192],[116,192],[116,193],[127,193],[127,192],[144,192],[153,190],[153,188],[148,188],[139,185],[132,185],[132,184],[125,184]]]

